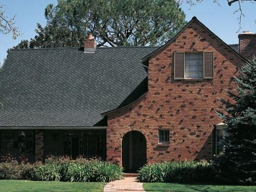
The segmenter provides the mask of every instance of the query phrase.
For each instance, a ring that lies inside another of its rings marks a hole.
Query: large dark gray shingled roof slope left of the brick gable
[[[140,60],[156,49],[11,49],[0,73],[0,127],[98,125],[145,82]]]

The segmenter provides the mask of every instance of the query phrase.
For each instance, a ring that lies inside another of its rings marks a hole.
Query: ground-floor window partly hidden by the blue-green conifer
[[[218,156],[222,150],[223,147],[225,146],[223,144],[224,138],[228,135],[227,134],[227,126],[226,125],[216,125],[216,130],[215,130],[215,155]]]

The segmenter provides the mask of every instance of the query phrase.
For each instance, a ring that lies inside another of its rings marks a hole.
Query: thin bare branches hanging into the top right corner
[[[196,3],[201,3],[201,2],[203,2],[203,1],[204,1],[204,0],[177,0],[177,2],[180,3],[180,4],[183,3],[183,2],[185,2],[185,3],[189,4],[190,6],[193,6],[193,5],[195,5]],[[241,3],[244,2],[244,1],[250,1],[250,2],[253,3],[253,4],[256,3],[256,0],[227,0],[227,4],[228,4],[229,6],[232,6],[234,3],[238,3],[238,9],[233,12],[233,14],[239,13],[239,17],[237,18],[237,20],[239,21],[239,22],[238,22],[238,24],[239,24],[239,29],[238,29],[237,32],[239,32],[240,29],[242,29],[242,27],[241,27],[241,20],[242,20],[242,17],[245,16],[245,15],[244,15],[244,12],[243,12],[243,10],[242,10],[242,5],[241,5]],[[212,0],[212,2],[217,3],[217,4],[220,6],[219,0]],[[256,20],[255,20],[255,23],[256,23]]]

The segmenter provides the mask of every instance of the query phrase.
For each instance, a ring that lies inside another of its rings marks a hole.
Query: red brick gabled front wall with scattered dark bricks
[[[174,80],[174,52],[213,51],[214,79]],[[148,92],[108,114],[107,160],[122,164],[122,137],[136,130],[146,137],[148,163],[211,159],[212,130],[221,122],[218,98],[228,99],[232,76],[244,61],[201,24],[193,21],[174,41],[149,59]],[[158,129],[170,129],[170,145],[158,145]]]

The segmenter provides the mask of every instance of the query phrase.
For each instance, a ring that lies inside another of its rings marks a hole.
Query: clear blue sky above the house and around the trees
[[[229,6],[227,0],[219,0],[219,2],[220,6],[213,3],[213,0],[204,0],[192,7],[183,3],[181,7],[186,14],[186,21],[196,16],[227,44],[238,43],[238,34],[242,31],[256,33],[256,3],[248,1],[241,3],[245,16],[242,18],[242,29],[236,33],[239,28],[237,20],[239,14],[233,14],[233,12],[238,9],[238,3]],[[9,18],[15,16],[16,26],[22,34],[15,40],[12,39],[12,34],[0,34],[1,64],[7,56],[8,48],[16,46],[22,39],[33,38],[36,35],[37,23],[43,26],[46,24],[44,9],[49,3],[56,5],[57,0],[0,0],[0,4],[4,4],[5,15]]]

